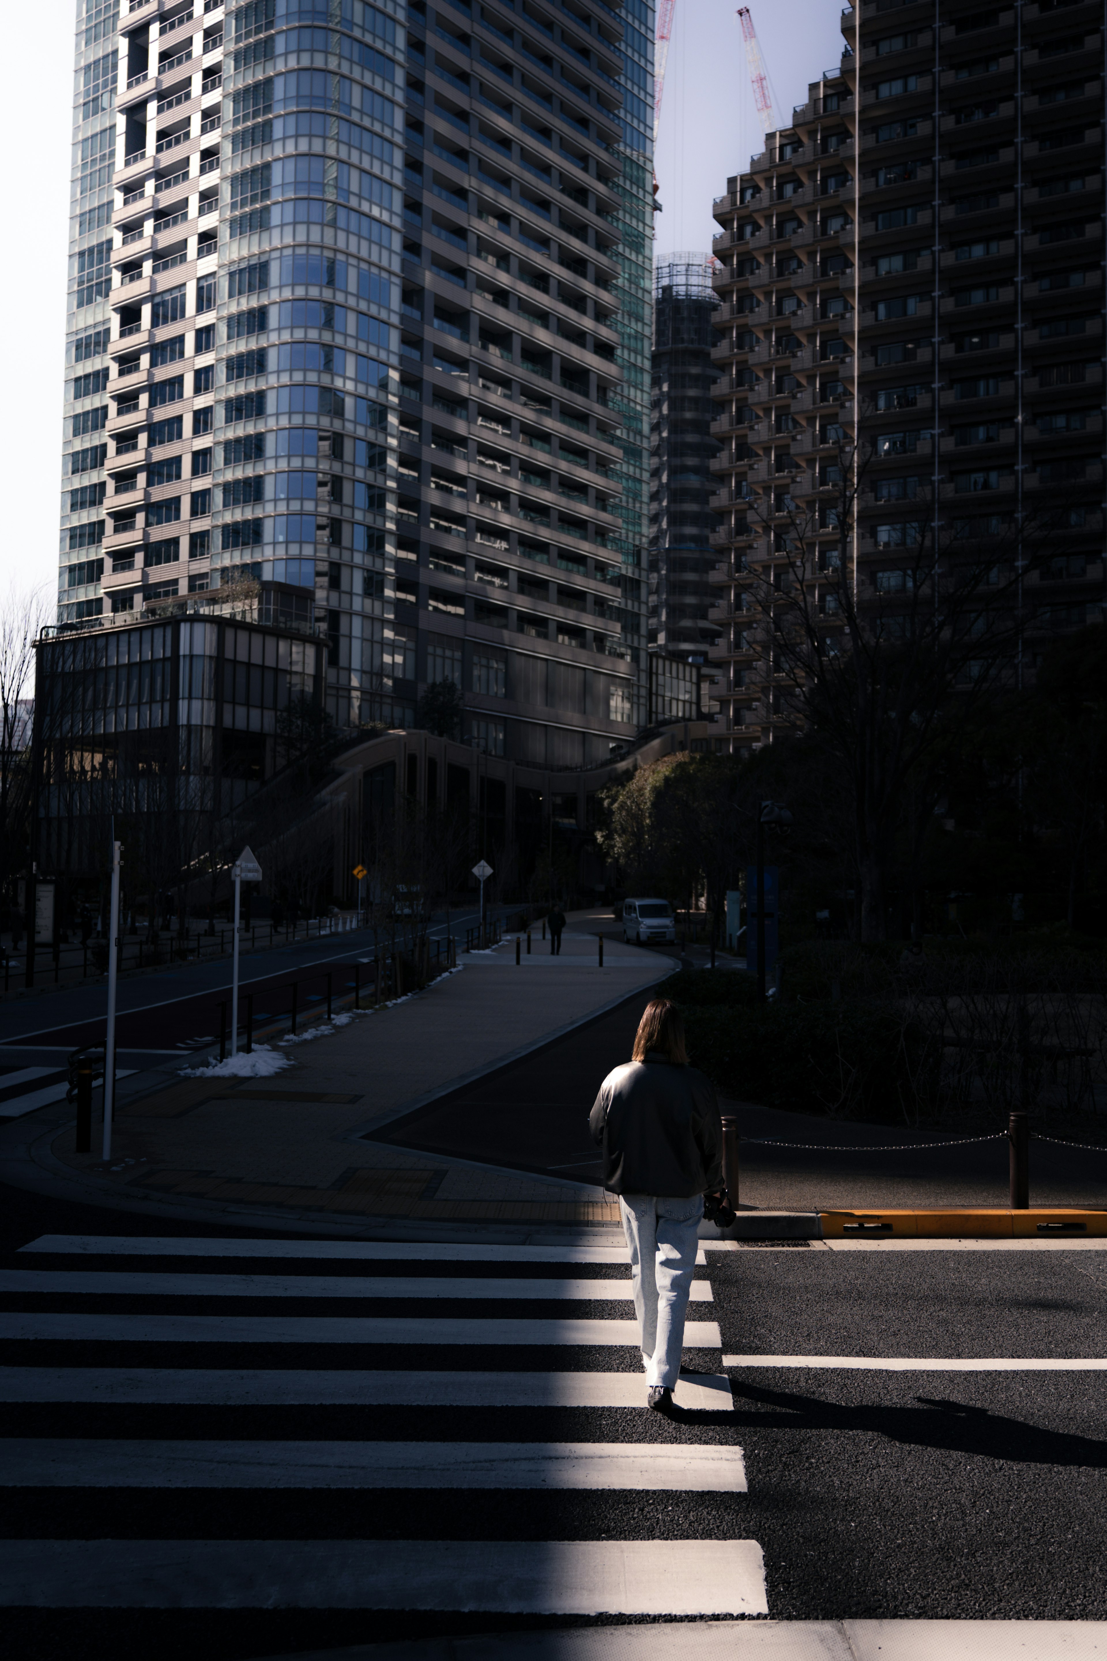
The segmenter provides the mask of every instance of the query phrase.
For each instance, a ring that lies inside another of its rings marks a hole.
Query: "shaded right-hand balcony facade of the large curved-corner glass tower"
[[[455,681],[473,741],[539,766],[644,719],[639,22],[408,8],[398,686]]]

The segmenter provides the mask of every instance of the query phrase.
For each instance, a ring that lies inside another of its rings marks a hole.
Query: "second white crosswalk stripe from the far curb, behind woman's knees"
[[[105,1269],[0,1269],[0,1294],[65,1297],[466,1297],[514,1302],[631,1302],[631,1276],[617,1281],[481,1281],[476,1276],[362,1274],[115,1274]],[[692,1281],[690,1301],[710,1304],[710,1281]]]

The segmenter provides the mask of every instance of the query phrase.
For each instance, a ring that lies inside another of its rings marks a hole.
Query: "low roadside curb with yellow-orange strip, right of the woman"
[[[818,1239],[1064,1239],[1107,1236],[1107,1209],[946,1206],[903,1211],[740,1211],[722,1237]]]

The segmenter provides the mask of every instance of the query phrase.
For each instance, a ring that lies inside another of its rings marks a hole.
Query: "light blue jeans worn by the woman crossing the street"
[[[646,1384],[675,1387],[684,1349],[684,1316],[692,1289],[704,1196],[619,1194],[631,1249],[634,1312],[642,1330]]]

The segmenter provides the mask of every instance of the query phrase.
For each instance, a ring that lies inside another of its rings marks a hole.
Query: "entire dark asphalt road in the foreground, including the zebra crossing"
[[[705,1242],[666,1420],[609,1231],[259,1242],[0,1201],[15,1661],[1107,1619],[1107,1374],[1034,1365],[1102,1360],[1107,1252]]]

